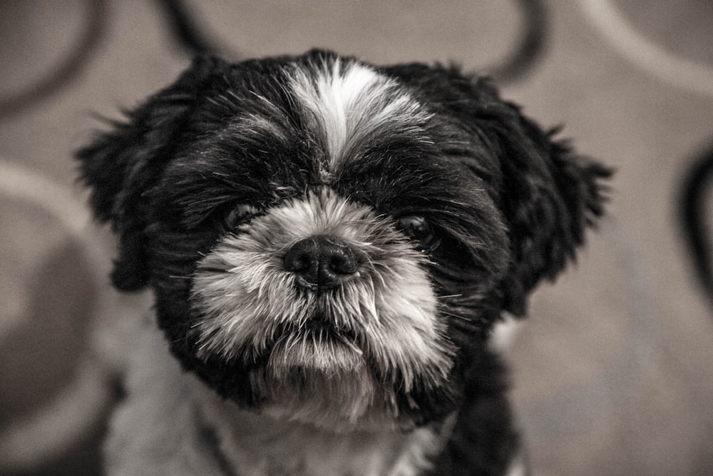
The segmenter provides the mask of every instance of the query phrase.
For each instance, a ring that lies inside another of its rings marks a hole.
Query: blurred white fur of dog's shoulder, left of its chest
[[[110,422],[106,472],[220,475],[219,461],[200,435],[188,375],[170,355],[163,335],[145,318],[126,335],[124,345],[127,396]]]

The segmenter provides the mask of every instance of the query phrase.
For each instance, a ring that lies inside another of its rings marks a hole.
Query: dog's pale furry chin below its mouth
[[[253,351],[250,361],[232,364],[244,367],[247,378],[237,385],[250,387],[252,403],[224,396],[248,410],[334,432],[413,428],[414,418],[397,402],[403,382],[385,380],[369,363],[367,345],[327,323],[286,328],[262,355]]]

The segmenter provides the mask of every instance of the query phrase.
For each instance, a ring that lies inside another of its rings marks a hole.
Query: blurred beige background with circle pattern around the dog
[[[0,3],[2,98],[73,51],[89,3]],[[713,3],[594,2],[615,6],[614,18],[591,3],[548,1],[547,51],[503,86],[525,113],[565,124],[578,150],[617,168],[600,232],[533,296],[509,357],[513,400],[535,474],[713,474],[713,312],[676,221],[683,173],[713,139]],[[506,0],[188,4],[245,56],[324,46],[376,64],[453,59],[483,69],[511,49],[519,25]],[[4,474],[96,470],[111,388],[90,331],[125,305],[108,290],[111,245],[88,223],[71,152],[101,126],[96,113],[117,117],[188,61],[154,2],[106,8],[81,73],[0,119]]]

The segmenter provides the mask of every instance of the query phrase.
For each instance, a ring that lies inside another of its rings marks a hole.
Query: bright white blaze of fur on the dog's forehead
[[[295,66],[289,86],[327,148],[329,167],[379,128],[413,130],[431,114],[396,80],[351,60]],[[424,140],[427,140],[424,138]]]

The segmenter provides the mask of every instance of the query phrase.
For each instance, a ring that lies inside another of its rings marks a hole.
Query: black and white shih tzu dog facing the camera
[[[523,471],[488,339],[609,175],[554,133],[454,67],[195,60],[78,152],[163,331],[127,344],[108,470]]]

